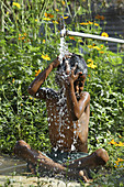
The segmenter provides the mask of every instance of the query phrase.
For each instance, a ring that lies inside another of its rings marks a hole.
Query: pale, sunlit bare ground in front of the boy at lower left
[[[26,163],[10,156],[0,156],[0,187],[79,187],[80,183],[58,178],[34,177]]]

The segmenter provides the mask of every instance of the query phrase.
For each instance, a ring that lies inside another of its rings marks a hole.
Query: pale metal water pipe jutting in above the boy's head
[[[100,40],[100,41],[115,42],[115,43],[124,44],[124,40],[121,40],[121,38],[99,36],[99,35],[86,34],[86,33],[80,33],[80,32],[75,32],[75,31],[66,31],[66,30],[61,30],[61,31],[63,31],[61,32],[63,35],[72,35],[72,36],[95,38],[95,40]]]

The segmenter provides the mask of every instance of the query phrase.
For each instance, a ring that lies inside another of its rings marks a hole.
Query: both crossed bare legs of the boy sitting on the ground
[[[106,151],[99,148],[89,156],[70,162],[69,165],[60,165],[45,156],[42,152],[32,150],[31,146],[22,140],[16,142],[14,153],[27,163],[35,166],[38,164],[41,172],[45,168],[45,170],[48,172],[52,170],[53,173],[67,174],[68,176],[77,175],[77,177],[79,175],[81,176],[82,173],[80,173],[80,170],[104,165],[109,160]]]

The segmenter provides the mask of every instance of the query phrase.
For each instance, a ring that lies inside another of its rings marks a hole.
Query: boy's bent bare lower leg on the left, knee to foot
[[[32,150],[31,146],[22,140],[16,142],[14,146],[14,154],[27,162],[29,165],[38,165],[41,170],[47,169],[61,174],[66,172],[66,167],[55,163],[49,157],[45,156],[42,152]]]

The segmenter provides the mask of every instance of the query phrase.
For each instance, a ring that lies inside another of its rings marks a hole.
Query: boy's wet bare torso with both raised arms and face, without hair
[[[86,76],[75,75],[75,68],[66,70],[68,77],[60,77],[61,92],[40,89],[47,75],[57,66],[56,59],[48,68],[41,73],[31,84],[29,92],[46,101],[49,139],[53,148],[78,152],[88,152],[88,123],[90,116],[90,95],[82,92]],[[69,75],[70,74],[70,75]],[[76,92],[79,95],[77,100]],[[75,140],[75,142],[74,142]],[[72,146],[72,147],[71,147]]]

